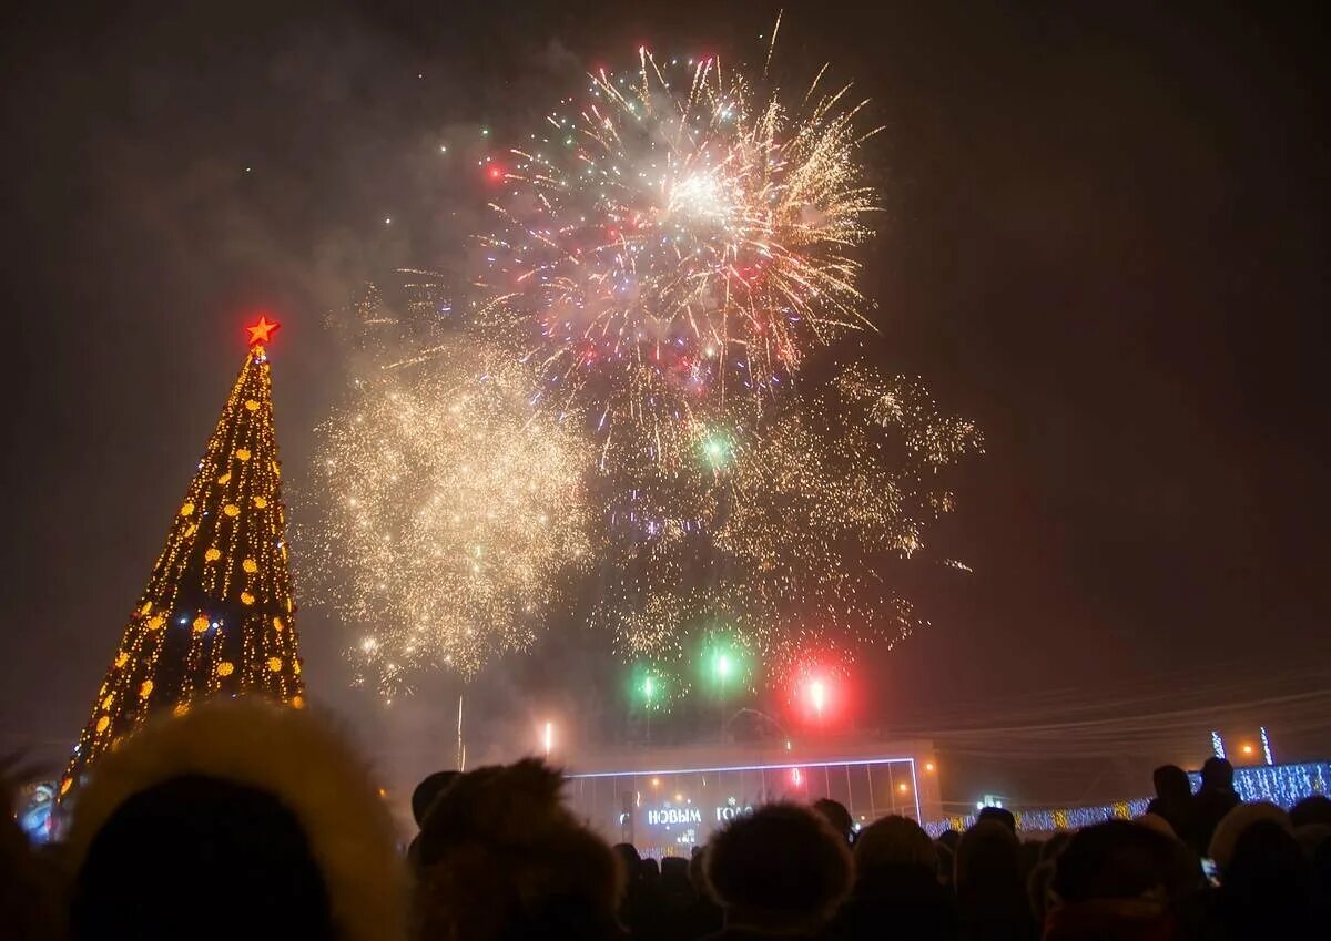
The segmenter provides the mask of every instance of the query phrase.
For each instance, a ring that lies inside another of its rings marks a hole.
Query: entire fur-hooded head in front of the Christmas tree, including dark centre
[[[406,872],[365,764],[257,699],[162,716],[73,804],[75,941],[338,938],[406,930]]]

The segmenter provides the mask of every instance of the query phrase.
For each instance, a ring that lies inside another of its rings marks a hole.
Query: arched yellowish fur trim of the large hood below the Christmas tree
[[[185,775],[265,791],[295,815],[343,941],[405,937],[406,869],[367,766],[326,723],[260,699],[214,700],[164,716],[101,758],[72,809],[73,871],[128,797]]]

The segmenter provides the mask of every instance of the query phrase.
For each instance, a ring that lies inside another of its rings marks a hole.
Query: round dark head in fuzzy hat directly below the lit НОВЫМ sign
[[[769,804],[712,837],[704,871],[728,925],[812,932],[851,890],[851,848],[808,808]]]

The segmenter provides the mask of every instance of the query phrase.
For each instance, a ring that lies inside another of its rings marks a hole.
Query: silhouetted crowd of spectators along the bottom
[[[0,937],[52,941],[1236,941],[1326,937],[1331,800],[1240,803],[1165,767],[1139,820],[1045,840],[984,811],[940,839],[771,804],[692,857],[608,845],[558,770],[431,775],[406,851],[370,770],[319,718],[260,702],[150,726],[65,801],[61,840],[0,835]],[[1213,868],[1214,867],[1214,868]]]

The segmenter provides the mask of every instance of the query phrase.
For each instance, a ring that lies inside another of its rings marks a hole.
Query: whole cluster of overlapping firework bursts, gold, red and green
[[[981,443],[869,367],[796,388],[869,326],[873,132],[825,72],[787,100],[767,69],[643,49],[484,163],[479,306],[322,428],[315,574],[385,695],[571,613],[634,665],[636,710],[771,682],[823,715],[860,646],[920,622],[884,562],[921,552]],[[411,346],[377,300],[357,323]]]

